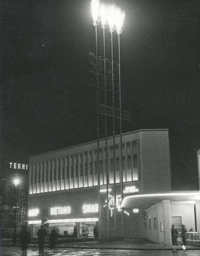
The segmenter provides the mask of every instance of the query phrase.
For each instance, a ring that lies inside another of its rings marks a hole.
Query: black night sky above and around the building
[[[123,132],[169,128],[172,189],[198,189],[200,1],[114,2],[126,13],[121,95],[131,121],[123,121]],[[96,140],[88,61],[95,52],[95,31],[90,0],[0,4],[0,172],[5,177],[9,162],[28,163],[31,155]],[[101,48],[102,30],[98,33]],[[113,40],[117,56],[115,33]],[[106,48],[110,58],[108,31]],[[118,134],[118,122],[116,127]]]

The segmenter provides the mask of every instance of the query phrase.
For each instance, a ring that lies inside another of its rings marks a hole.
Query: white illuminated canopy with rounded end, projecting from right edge
[[[162,203],[163,200],[176,202],[185,201],[188,203],[190,201],[190,203],[194,203],[194,201],[200,200],[200,191],[165,191],[158,193],[140,193],[137,195],[128,195],[122,200],[121,207],[148,209],[155,204]]]

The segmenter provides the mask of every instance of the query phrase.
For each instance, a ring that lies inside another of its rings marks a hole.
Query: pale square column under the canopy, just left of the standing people
[[[172,245],[170,201],[163,201],[164,243]]]

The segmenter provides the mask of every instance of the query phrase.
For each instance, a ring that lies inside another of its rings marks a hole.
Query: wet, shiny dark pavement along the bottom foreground
[[[1,256],[21,256],[20,247],[1,247]],[[78,248],[45,248],[44,256],[200,256],[200,250],[116,250],[116,249],[78,249]],[[29,247],[27,256],[39,256],[37,247]]]

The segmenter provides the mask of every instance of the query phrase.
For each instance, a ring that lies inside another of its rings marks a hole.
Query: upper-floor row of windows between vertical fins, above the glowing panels
[[[115,170],[121,168],[119,157],[119,145],[115,146]],[[99,172],[106,170],[107,160],[105,159],[105,148],[99,150]],[[108,148],[108,169],[114,170],[113,146]],[[138,168],[138,148],[137,141],[123,143],[122,145],[122,166],[123,170]],[[44,183],[53,180],[64,180],[73,177],[83,177],[87,175],[98,174],[97,150],[86,151],[66,157],[46,160],[40,163],[32,164],[30,170],[30,183]],[[48,180],[49,179],[49,180]]]

